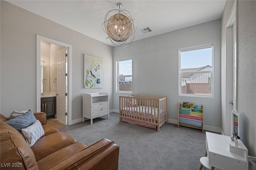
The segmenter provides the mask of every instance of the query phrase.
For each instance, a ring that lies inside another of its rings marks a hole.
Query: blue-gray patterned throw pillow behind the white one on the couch
[[[8,123],[9,125],[17,129],[21,133],[21,129],[25,129],[29,127],[35,121],[36,121],[36,117],[34,116],[34,113],[29,109],[23,115],[7,120],[5,121],[5,123]]]

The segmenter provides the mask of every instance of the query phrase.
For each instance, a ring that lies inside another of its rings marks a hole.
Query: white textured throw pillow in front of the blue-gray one
[[[27,127],[26,129],[21,129],[21,134],[25,138],[26,142],[30,147],[32,147],[36,141],[44,135],[44,129],[39,120]]]

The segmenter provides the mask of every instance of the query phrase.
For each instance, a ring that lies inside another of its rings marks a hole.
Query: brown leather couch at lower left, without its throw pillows
[[[1,170],[118,170],[119,146],[102,139],[91,146],[46,124],[46,114],[34,113],[44,135],[29,147],[24,137],[0,114]]]

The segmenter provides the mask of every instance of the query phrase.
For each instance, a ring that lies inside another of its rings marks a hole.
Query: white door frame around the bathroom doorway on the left
[[[56,41],[54,39],[50,39],[47,37],[43,37],[41,35],[36,35],[36,112],[41,111],[40,103],[40,60],[41,60],[41,41],[45,41],[47,43],[59,45],[62,47],[67,47],[68,49],[68,108],[67,108],[67,125],[72,123],[72,45],[62,43],[60,41]]]

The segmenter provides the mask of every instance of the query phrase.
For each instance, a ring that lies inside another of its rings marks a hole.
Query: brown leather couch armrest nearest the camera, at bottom
[[[66,150],[64,156],[62,157],[58,157],[54,155],[55,153],[53,153],[51,156],[53,156],[55,159],[52,157],[43,158],[42,160],[38,161],[38,166],[39,164],[42,164],[42,166],[45,166],[43,169],[49,170],[81,169],[79,168],[80,165],[82,166],[83,170],[87,169],[85,166],[90,166],[90,170],[118,170],[119,146],[108,139],[102,139],[93,145],[76,152],[75,154],[67,153],[68,151]],[[60,155],[59,152],[58,155]],[[58,160],[56,158],[58,158]],[[51,163],[55,165],[52,165]]]

